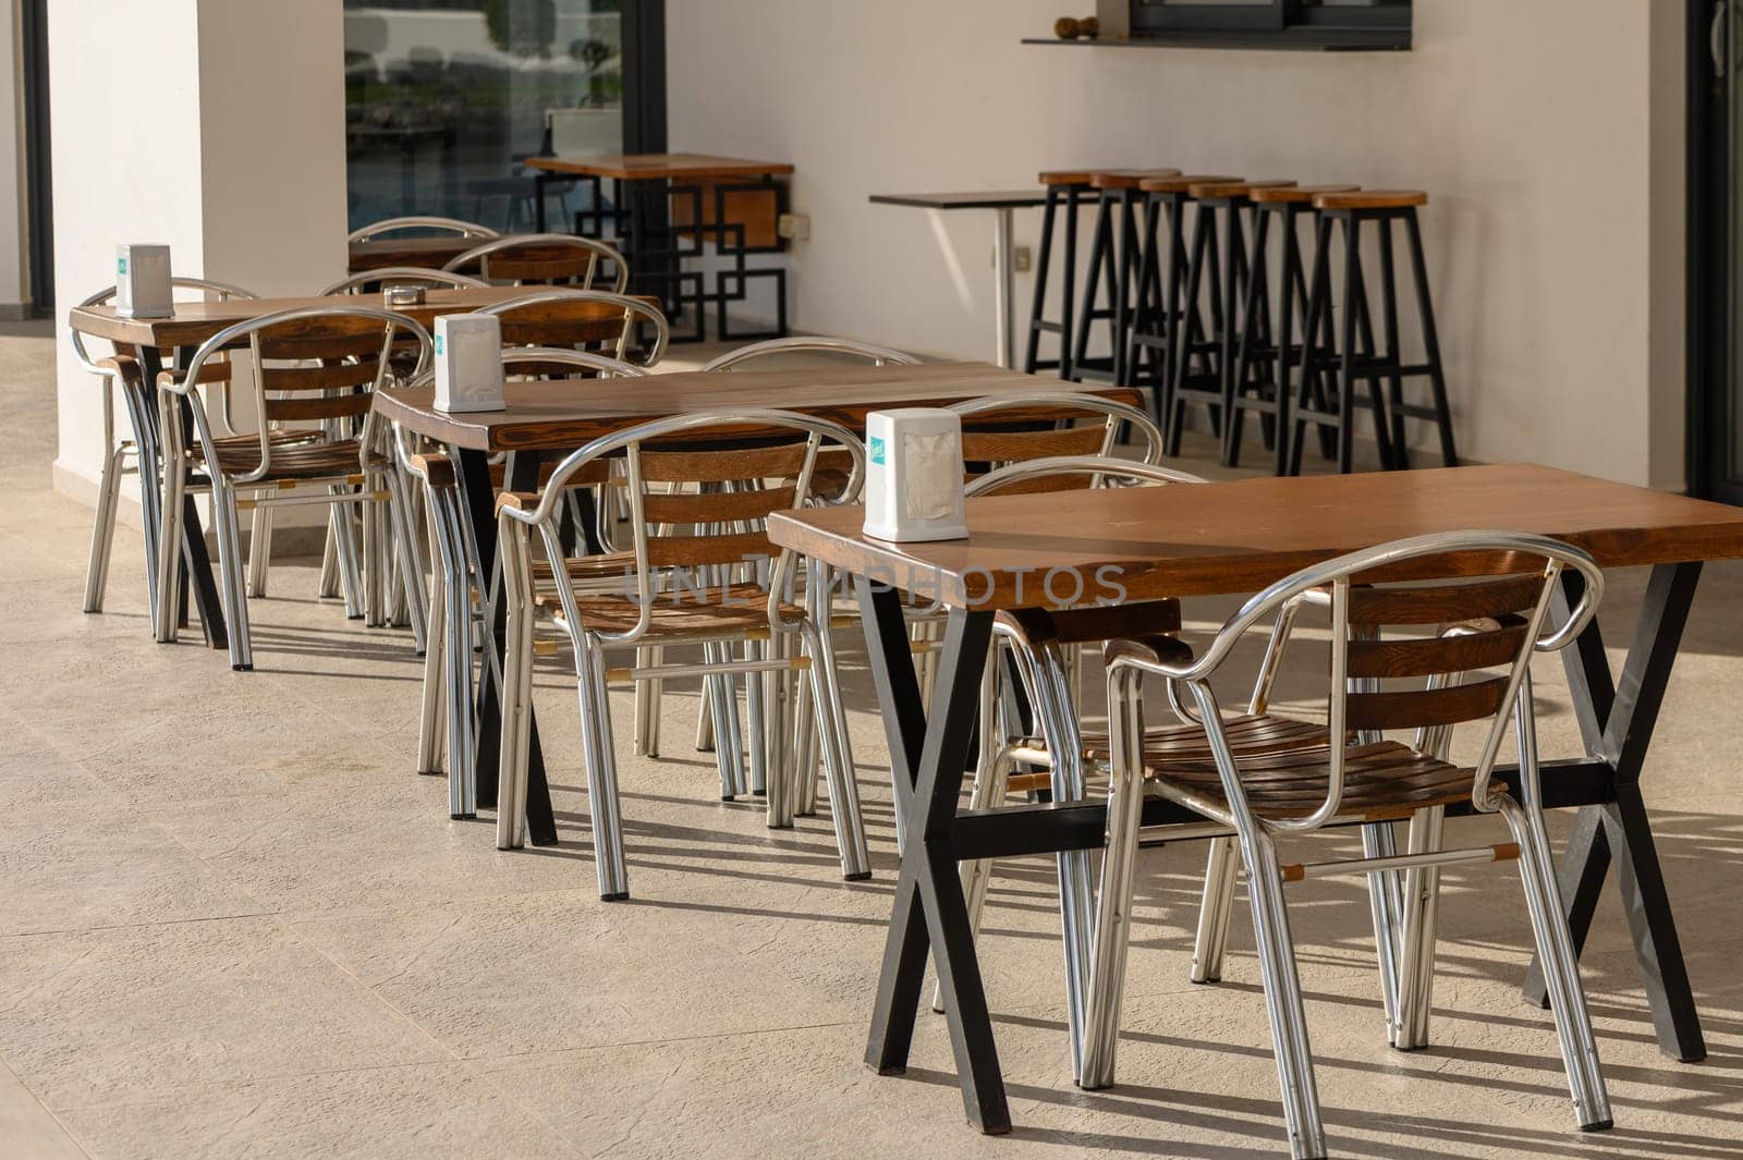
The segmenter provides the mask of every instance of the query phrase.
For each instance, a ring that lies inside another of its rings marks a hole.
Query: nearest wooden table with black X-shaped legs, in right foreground
[[[1089,583],[1112,575],[1129,599],[1236,594],[1342,552],[1471,528],[1551,535],[1605,568],[1652,568],[1619,676],[1597,620],[1563,651],[1586,754],[1544,761],[1543,792],[1551,808],[1579,808],[1560,871],[1576,948],[1614,859],[1659,1043],[1677,1059],[1705,1057],[1640,773],[1701,561],[1743,557],[1743,509],[1516,465],[1251,479],[1171,489],[1166,503],[1145,489],[994,496],[969,500],[969,536],[941,543],[868,540],[863,519],[854,507],[783,512],[769,531],[777,545],[856,577],[898,772],[905,853],[866,1047],[866,1062],[880,1073],[906,1066],[931,949],[969,1118],[985,1132],[1009,1130],[957,864],[1089,850],[1103,840],[1103,803],[957,813],[997,610],[1035,603],[1046,590],[1037,577],[1049,573]],[[950,606],[931,707],[920,704],[901,596],[889,583],[941,592]],[[1567,615],[1579,583],[1565,577],[1556,617]],[[1497,770],[1502,780],[1516,775]],[[1196,820],[1163,799],[1143,806],[1145,826]],[[1536,965],[1525,991],[1544,1002]]]

